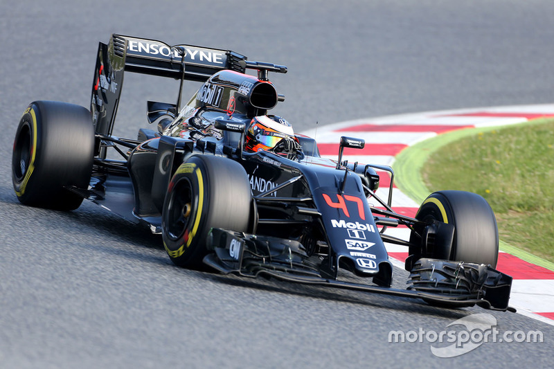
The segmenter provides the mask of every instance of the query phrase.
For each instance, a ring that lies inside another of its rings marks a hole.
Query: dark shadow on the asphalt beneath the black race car
[[[19,206],[21,206],[22,209],[33,209],[19,204],[17,199],[6,198],[6,196],[3,195],[0,195],[0,202],[6,204],[8,208],[15,208],[15,210],[17,210]],[[70,212],[44,209],[39,211],[54,212],[63,222],[78,226],[80,233],[95,235],[96,237],[98,237],[98,235],[114,237],[118,242],[129,244],[128,248],[122,248],[84,242],[80,244],[83,248],[118,258],[125,258],[127,260],[137,260],[139,262],[156,264],[163,269],[171,268],[171,272],[177,273],[178,275],[184,276],[188,274],[190,276],[190,273],[193,273],[195,278],[202,278],[206,281],[217,282],[233,287],[257,289],[258,291],[266,291],[273,294],[286,294],[287,296],[294,295],[302,298],[317,298],[321,300],[338,301],[340,303],[364,305],[373,309],[390,310],[392,308],[410,312],[411,314],[421,314],[425,316],[441,316],[443,318],[457,319],[473,314],[470,309],[434,307],[422,300],[413,298],[373,294],[362,291],[347,291],[324,286],[303,285],[301,283],[286,282],[276,279],[241,278],[234,275],[223,275],[215,271],[183,269],[175,266],[175,264],[171,262],[166,251],[163,249],[161,235],[154,235],[146,226],[132,224],[117,215],[98,208],[94,204],[87,204],[85,202],[81,208]]]

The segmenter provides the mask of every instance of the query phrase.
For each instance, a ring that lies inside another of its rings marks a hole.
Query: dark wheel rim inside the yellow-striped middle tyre
[[[193,190],[188,179],[182,178],[175,183],[170,193],[166,218],[167,235],[171,240],[179,240],[189,228],[193,200]]]

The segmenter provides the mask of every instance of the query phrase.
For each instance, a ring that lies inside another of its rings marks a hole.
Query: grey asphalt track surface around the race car
[[[544,343],[483,343],[454,359],[391,330],[440,332],[479,308],[241,280],[174,267],[159,237],[93,204],[21,206],[12,141],[32,100],[89,106],[111,33],[229,48],[289,66],[275,112],[297,131],[370,116],[552,102],[554,3],[535,1],[19,1],[0,3],[0,367],[551,366],[554,329],[497,313]],[[119,125],[175,81],[126,75]],[[395,286],[406,273],[395,269]],[[436,344],[434,344],[436,345]]]

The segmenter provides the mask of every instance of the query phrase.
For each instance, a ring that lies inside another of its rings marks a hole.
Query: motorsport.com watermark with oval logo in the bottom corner
[[[431,352],[436,357],[457,357],[478,348],[483,343],[542,343],[544,336],[539,330],[524,332],[521,330],[506,330],[500,332],[497,319],[491,314],[473,314],[465,316],[447,325],[463,325],[461,330],[400,330],[388,332],[389,343],[431,343]],[[441,345],[451,343],[451,345]]]

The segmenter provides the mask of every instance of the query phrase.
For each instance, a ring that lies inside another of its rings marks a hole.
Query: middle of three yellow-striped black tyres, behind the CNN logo
[[[203,269],[211,228],[251,229],[252,195],[242,166],[218,156],[193,155],[175,172],[162,211],[163,245],[179,267]]]

